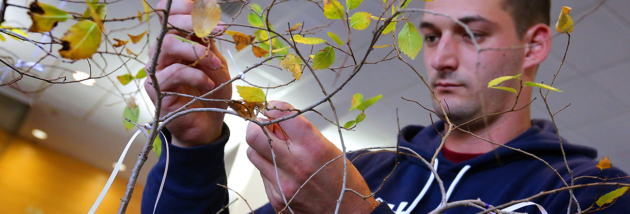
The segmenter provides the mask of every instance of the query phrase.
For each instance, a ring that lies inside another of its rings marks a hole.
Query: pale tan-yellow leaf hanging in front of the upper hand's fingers
[[[199,38],[210,35],[219,24],[221,8],[216,0],[193,0],[193,9],[190,13],[193,21],[193,30]]]

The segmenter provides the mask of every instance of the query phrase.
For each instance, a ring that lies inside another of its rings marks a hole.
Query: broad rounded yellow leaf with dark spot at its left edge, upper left
[[[93,21],[84,20],[72,25],[61,38],[59,55],[71,60],[90,58],[101,45],[101,31]]]

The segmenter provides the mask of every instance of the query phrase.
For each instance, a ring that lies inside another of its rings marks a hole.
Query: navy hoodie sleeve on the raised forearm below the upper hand
[[[164,129],[162,154],[149,172],[142,193],[142,214],[154,210],[157,194],[166,166],[166,144],[171,134]],[[217,184],[227,185],[223,156],[229,139],[229,129],[223,124],[221,138],[197,147],[178,147],[169,144],[169,166],[163,191],[155,213],[209,213],[215,214],[228,203],[227,190]],[[226,209],[222,212],[228,214]]]

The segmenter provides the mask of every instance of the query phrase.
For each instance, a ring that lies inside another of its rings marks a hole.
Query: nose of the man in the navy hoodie
[[[442,35],[435,50],[432,51],[431,67],[438,72],[454,72],[459,66],[458,50],[459,43],[452,35]]]

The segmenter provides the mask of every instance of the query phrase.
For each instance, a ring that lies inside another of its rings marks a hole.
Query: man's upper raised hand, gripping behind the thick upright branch
[[[157,4],[157,9],[164,9],[166,1]],[[193,31],[192,1],[173,0],[168,17],[169,23],[181,29]],[[169,31],[164,37],[161,53],[157,59],[156,78],[161,92],[176,92],[201,96],[227,82],[230,76],[227,71],[225,58],[219,53],[214,42],[208,44],[191,44],[181,41],[176,31]],[[193,39],[194,40],[194,39]],[[199,41],[198,38],[196,41]],[[209,45],[210,48],[204,45]],[[152,46],[151,57],[155,54],[156,46]],[[194,66],[193,63],[195,63]],[[146,65],[149,70],[151,65]],[[157,100],[151,78],[147,78],[144,87],[151,100]],[[232,87],[226,85],[207,99],[230,99]],[[160,115],[166,115],[190,102],[191,98],[181,96],[167,96],[162,100]],[[192,108],[221,108],[227,105],[222,102],[197,101],[190,105]],[[223,114],[217,112],[196,112],[186,114],[173,120],[166,127],[173,134],[173,144],[177,146],[198,146],[213,142],[221,135]]]

